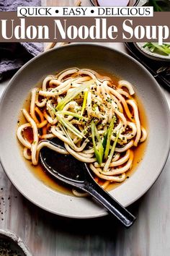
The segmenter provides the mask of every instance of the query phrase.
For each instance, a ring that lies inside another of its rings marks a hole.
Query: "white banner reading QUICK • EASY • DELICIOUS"
[[[18,17],[153,17],[153,7],[17,7]]]

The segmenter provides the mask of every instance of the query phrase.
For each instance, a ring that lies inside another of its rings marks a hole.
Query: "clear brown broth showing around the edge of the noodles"
[[[118,85],[118,81],[120,80],[120,77],[117,77],[114,74],[110,74],[110,73],[104,72],[103,70],[100,70],[100,69],[95,69],[95,70],[99,74],[101,74],[102,78],[110,77],[112,79],[112,85],[115,85],[115,86]],[[37,83],[36,87],[40,88],[40,85],[41,85],[41,83],[39,82],[39,83]],[[135,96],[135,100],[138,102],[139,115],[140,115],[140,123],[142,124],[142,126],[148,132],[148,121],[147,121],[147,118],[146,118],[146,112],[144,110],[143,103],[140,101],[140,99],[137,96]],[[29,106],[30,106],[30,95],[27,97],[26,101],[24,101],[23,108],[26,108],[27,111],[28,111],[29,110]],[[18,119],[18,126],[20,126],[21,124],[24,124],[25,121],[26,120],[24,119],[24,116],[21,113],[19,115],[19,119]],[[29,132],[29,130],[30,130],[30,132]],[[27,136],[28,140],[32,141],[31,129],[27,129],[24,132],[25,132],[25,135]],[[143,156],[145,154],[146,145],[147,145],[147,140],[145,142],[140,143],[140,145],[138,145],[137,148],[135,148],[135,147],[132,148],[133,149],[133,153],[134,153],[133,167],[130,169],[130,171],[126,172],[126,177],[127,177],[126,179],[130,179],[130,176],[132,176],[133,173],[138,168],[138,165],[140,164],[140,161],[142,161]],[[22,145],[20,143],[19,143],[19,148],[21,150],[21,154],[23,155],[23,147],[22,147]],[[37,179],[40,179],[40,181],[42,181],[43,184],[45,184],[46,186],[50,187],[51,189],[57,190],[58,192],[64,193],[66,195],[73,195],[72,192],[71,192],[71,188],[69,188],[67,186],[63,186],[63,184],[61,185],[55,179],[53,179],[51,176],[49,176],[47,173],[45,173],[45,170],[42,168],[40,163],[37,166],[33,166],[30,161],[27,161],[26,159],[24,159],[24,161],[27,164],[28,169],[30,169],[30,171],[32,171],[32,173],[35,174]],[[126,181],[126,179],[125,179],[125,181]],[[107,187],[107,190],[110,191],[112,189],[115,189],[116,187],[120,186],[124,182],[120,182],[120,183],[119,182],[113,182],[113,183],[110,183],[109,186]]]

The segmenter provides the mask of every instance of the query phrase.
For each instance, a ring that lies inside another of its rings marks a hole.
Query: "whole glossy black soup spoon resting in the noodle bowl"
[[[61,144],[62,142],[55,138],[48,140],[48,142],[58,148],[64,148]],[[40,150],[40,161],[45,170],[56,179],[92,195],[126,227],[130,227],[135,221],[135,216],[129,213],[128,210],[94,181],[86,163],[78,161],[72,155],[58,154],[49,148],[42,148]]]

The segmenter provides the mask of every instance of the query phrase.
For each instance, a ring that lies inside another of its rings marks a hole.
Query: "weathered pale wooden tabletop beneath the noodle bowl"
[[[104,45],[126,51],[122,43]],[[8,82],[0,83],[0,95]],[[170,105],[169,92],[164,94]],[[170,157],[153,187],[129,207],[137,221],[125,229],[109,216],[75,220],[45,212],[22,197],[0,167],[0,229],[17,233],[34,256],[169,256],[169,170]]]

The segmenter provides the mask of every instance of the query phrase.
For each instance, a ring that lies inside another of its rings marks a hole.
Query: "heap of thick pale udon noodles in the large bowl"
[[[111,78],[91,69],[72,68],[48,75],[41,88],[32,89],[29,112],[22,109],[27,121],[17,129],[17,137],[24,146],[24,158],[36,166],[40,150],[48,147],[89,163],[104,188],[110,182],[123,182],[133,165],[133,148],[147,137],[134,94],[130,82],[120,80],[116,86]],[[92,140],[92,123],[96,142]],[[32,141],[24,137],[28,128],[32,129]],[[109,151],[104,159],[106,135]],[[53,137],[62,140],[66,150],[51,145],[48,139]],[[97,161],[99,146],[102,162]]]

